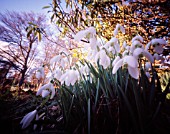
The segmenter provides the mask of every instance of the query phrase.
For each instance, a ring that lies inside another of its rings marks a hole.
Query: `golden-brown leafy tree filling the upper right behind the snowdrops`
[[[98,35],[109,40],[119,23],[126,29],[125,40],[139,34],[146,42],[159,37],[170,41],[169,6],[169,0],[53,0],[51,19],[70,38],[70,33],[94,26]]]

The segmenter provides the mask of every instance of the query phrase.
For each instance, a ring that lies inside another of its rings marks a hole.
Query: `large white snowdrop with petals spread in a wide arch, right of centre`
[[[133,56],[125,56],[122,59],[118,60],[113,66],[112,73],[115,74],[117,70],[124,64],[128,65],[129,74],[133,78],[138,79],[139,78],[138,62],[137,59],[134,58]]]

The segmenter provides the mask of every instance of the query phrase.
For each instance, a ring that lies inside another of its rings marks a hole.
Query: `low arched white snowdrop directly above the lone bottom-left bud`
[[[47,84],[43,85],[41,88],[38,89],[36,95],[38,96],[38,95],[41,94],[42,97],[46,97],[46,96],[49,95],[49,94],[48,94],[47,91],[43,91],[43,90],[47,90],[47,89],[49,89],[49,91],[51,92],[51,97],[50,97],[50,99],[52,99],[52,98],[54,97],[54,95],[55,95],[55,88],[54,88],[54,86],[53,86],[52,83],[47,83]]]

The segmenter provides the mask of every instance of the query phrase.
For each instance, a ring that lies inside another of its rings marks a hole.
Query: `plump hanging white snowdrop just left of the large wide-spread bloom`
[[[103,66],[104,69],[106,69],[110,65],[110,58],[107,56],[105,50],[100,50],[96,56],[95,56],[95,62],[97,64],[97,61],[99,59],[99,64]]]

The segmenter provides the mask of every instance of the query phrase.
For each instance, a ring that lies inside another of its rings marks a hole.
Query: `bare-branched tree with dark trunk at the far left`
[[[28,68],[38,54],[37,36],[31,33],[27,37],[26,28],[30,22],[45,27],[45,16],[33,12],[0,13],[0,40],[8,43],[6,49],[0,48],[0,56],[18,66],[17,70],[21,74],[19,86],[22,85]]]

